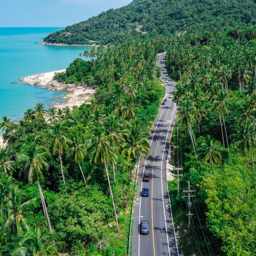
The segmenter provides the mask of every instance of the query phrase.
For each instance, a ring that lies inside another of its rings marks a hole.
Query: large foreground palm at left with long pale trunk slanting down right
[[[47,158],[50,157],[51,154],[46,148],[37,145],[38,140],[39,136],[36,136],[33,140],[30,134],[21,139],[23,144],[20,147],[20,151],[17,153],[17,166],[21,168],[21,170],[23,170],[28,176],[28,184],[31,185],[35,182],[35,180],[37,181],[44,216],[48,222],[50,231],[52,232],[52,227],[44,200],[44,194],[40,185],[40,183],[44,182],[42,170],[47,170],[49,168]]]

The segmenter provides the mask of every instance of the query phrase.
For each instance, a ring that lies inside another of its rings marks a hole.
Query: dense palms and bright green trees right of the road
[[[196,189],[191,198],[194,246],[186,246],[185,255],[256,253],[255,36],[255,27],[236,27],[173,36],[166,42],[168,73],[179,80],[173,97],[179,138],[173,143],[176,152],[182,151],[181,188],[188,189],[189,180]],[[176,221],[184,223],[187,199],[181,191],[179,197],[171,191]],[[185,247],[189,236],[184,229]]]

